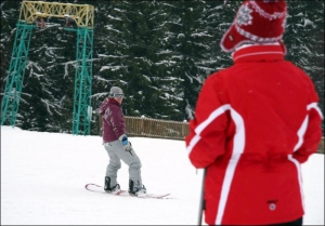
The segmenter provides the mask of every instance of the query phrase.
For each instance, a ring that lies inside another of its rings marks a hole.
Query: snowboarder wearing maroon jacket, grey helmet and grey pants
[[[109,163],[106,168],[105,186],[106,192],[119,192],[117,183],[117,171],[122,160],[129,165],[129,194],[131,196],[144,196],[146,188],[141,178],[141,161],[133,150],[126,133],[126,123],[121,110],[125,97],[122,90],[112,87],[108,98],[105,98],[100,107],[102,117],[103,145],[108,154]]]

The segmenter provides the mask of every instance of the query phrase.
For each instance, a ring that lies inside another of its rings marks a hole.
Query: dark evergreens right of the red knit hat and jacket
[[[322,0],[289,1],[284,42],[286,58],[312,79],[324,114],[324,4]],[[324,132],[324,122],[322,124]]]

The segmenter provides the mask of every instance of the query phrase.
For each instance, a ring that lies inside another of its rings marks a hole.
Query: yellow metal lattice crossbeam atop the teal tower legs
[[[93,28],[94,8],[91,4],[72,4],[44,1],[22,1],[20,19],[32,24],[37,17],[70,17],[78,26]]]

